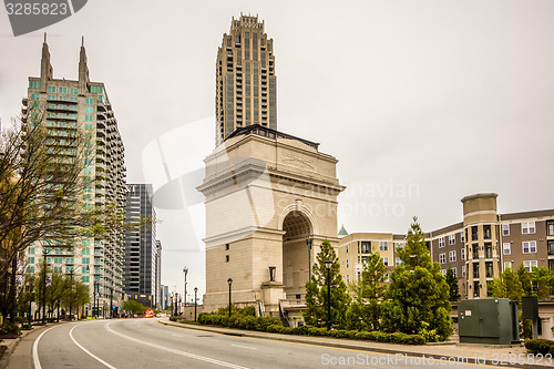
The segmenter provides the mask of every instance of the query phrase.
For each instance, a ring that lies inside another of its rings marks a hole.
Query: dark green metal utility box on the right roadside
[[[462,300],[458,306],[460,342],[520,342],[517,304],[507,298]]]

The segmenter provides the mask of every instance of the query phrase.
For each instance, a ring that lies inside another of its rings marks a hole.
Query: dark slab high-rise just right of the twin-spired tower
[[[142,304],[160,304],[162,244],[156,239],[152,184],[127,184],[124,291]],[[136,297],[135,297],[136,296]]]

